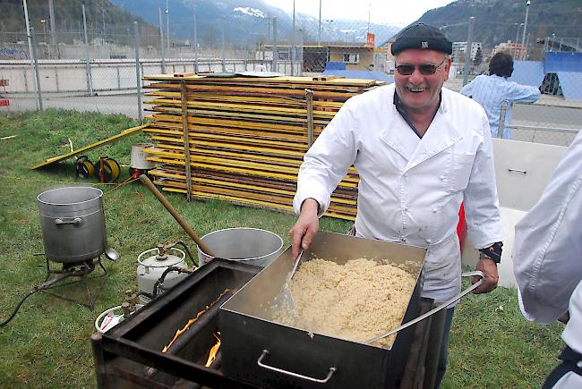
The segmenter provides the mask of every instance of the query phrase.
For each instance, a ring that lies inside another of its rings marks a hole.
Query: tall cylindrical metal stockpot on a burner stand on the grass
[[[77,263],[103,254],[106,248],[103,191],[65,187],[44,191],[37,199],[47,259]]]

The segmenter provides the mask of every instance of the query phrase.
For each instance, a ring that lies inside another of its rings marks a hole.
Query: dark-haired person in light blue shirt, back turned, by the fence
[[[507,101],[507,113],[502,138],[511,139],[511,106],[513,103],[535,103],[540,98],[540,90],[528,85],[507,80],[513,72],[513,58],[507,53],[493,55],[489,62],[489,74],[475,77],[460,90],[462,95],[473,98],[484,107],[493,138],[497,137],[501,105]]]

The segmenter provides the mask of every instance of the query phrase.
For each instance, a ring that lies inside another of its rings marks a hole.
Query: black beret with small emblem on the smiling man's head
[[[413,24],[400,31],[390,47],[390,52],[397,55],[408,48],[435,50],[446,54],[453,52],[453,44],[441,30],[424,23]]]

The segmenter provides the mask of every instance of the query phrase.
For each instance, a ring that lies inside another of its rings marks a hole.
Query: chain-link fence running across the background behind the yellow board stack
[[[147,23],[109,23],[99,10],[92,10],[88,19],[82,11],[76,21],[57,22],[55,30],[44,19],[40,24],[31,21],[34,28],[28,32],[0,26],[0,80],[6,80],[0,99],[9,102],[0,110],[56,107],[141,119],[147,114],[138,98],[141,77],[160,73],[278,72],[393,81],[395,59],[389,48],[398,29],[381,24],[331,20],[321,14],[318,20],[294,19],[290,25],[262,15],[258,30],[233,36],[226,21],[201,28],[196,20],[202,12],[193,10],[188,38],[176,38],[178,31],[169,30],[172,24],[168,27],[162,10],[156,15],[162,29]],[[472,31],[486,22],[491,21],[471,18],[454,25],[466,28],[467,35],[466,41],[453,44],[445,86],[460,90],[487,73],[493,54],[508,52],[516,59],[511,80],[542,91],[535,104],[513,106],[507,123],[512,139],[569,145],[582,127],[579,38],[555,33],[535,38],[530,33],[524,41],[524,23],[507,23],[515,39],[485,47],[488,43]],[[452,28],[439,27],[445,33]]]

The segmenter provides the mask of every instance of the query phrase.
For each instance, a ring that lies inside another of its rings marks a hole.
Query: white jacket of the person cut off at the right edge
[[[561,337],[582,353],[582,132],[516,224],[513,269],[524,316],[549,324],[569,310]],[[570,372],[554,387],[582,387],[582,376]]]

